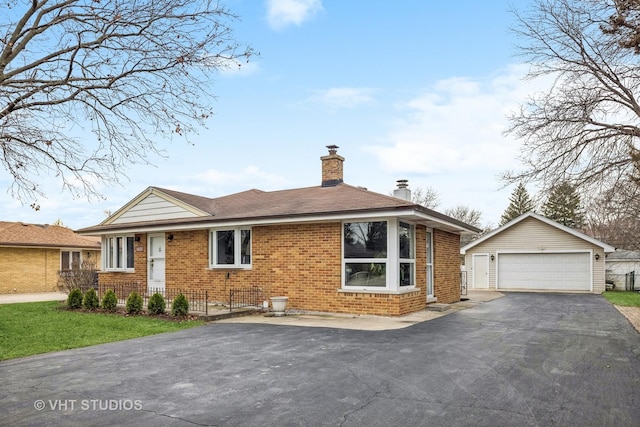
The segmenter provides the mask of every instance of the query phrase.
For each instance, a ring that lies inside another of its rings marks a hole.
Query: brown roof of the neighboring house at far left
[[[0,246],[100,249],[100,239],[66,227],[0,221]]]

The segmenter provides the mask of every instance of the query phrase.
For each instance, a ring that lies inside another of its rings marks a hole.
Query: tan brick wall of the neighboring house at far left
[[[100,259],[99,252],[91,253]],[[0,294],[55,292],[59,270],[60,249],[0,248]]]

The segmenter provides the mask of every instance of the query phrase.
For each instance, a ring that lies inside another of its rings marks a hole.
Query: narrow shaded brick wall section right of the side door
[[[460,301],[460,236],[442,230],[433,233],[433,286],[439,303]]]

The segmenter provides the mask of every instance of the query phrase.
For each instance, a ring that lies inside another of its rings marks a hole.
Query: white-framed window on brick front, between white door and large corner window
[[[212,268],[251,267],[251,229],[228,228],[209,234],[209,264]]]

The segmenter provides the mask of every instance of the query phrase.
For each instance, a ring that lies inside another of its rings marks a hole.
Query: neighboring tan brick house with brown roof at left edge
[[[58,272],[95,260],[100,239],[56,225],[0,222],[0,294],[56,291]]]

